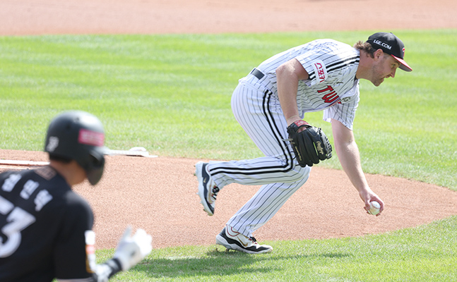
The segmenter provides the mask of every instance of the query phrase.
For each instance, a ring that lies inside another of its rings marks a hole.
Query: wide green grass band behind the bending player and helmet
[[[364,170],[456,190],[457,31],[396,33],[414,71],[380,87],[361,82],[354,133]],[[0,148],[41,150],[49,119],[82,109],[100,117],[112,149],[258,157],[230,109],[237,80],[311,39],[353,44],[369,34],[0,37]],[[331,137],[321,116],[305,118]],[[337,158],[322,165],[339,168]]]

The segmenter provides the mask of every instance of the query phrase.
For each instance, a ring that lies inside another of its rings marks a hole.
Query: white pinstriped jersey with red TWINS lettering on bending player
[[[352,129],[360,100],[359,80],[355,78],[360,51],[333,39],[317,39],[263,61],[258,68],[266,78],[260,83],[273,92],[273,97],[278,98],[276,68],[294,58],[309,74],[309,80],[300,80],[298,85],[300,116],[324,110],[325,121],[333,118]]]

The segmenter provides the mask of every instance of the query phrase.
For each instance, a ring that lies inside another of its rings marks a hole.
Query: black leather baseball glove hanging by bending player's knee
[[[300,128],[306,128],[299,131]],[[332,147],[324,131],[306,121],[295,121],[287,127],[289,141],[300,166],[313,166],[332,157]]]

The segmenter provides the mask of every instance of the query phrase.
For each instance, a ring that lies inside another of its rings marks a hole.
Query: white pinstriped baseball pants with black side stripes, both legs
[[[227,222],[250,237],[307,181],[311,168],[298,166],[289,142],[284,141],[287,124],[279,100],[270,90],[240,80],[232,95],[232,111],[266,157],[210,161],[208,170],[219,188],[230,183],[262,185]]]

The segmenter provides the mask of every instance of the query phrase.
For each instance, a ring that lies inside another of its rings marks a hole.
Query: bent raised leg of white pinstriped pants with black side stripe
[[[259,91],[261,97],[259,97]],[[256,93],[256,94],[253,94]],[[271,92],[240,84],[232,97],[232,109],[237,121],[266,157],[241,161],[210,161],[208,170],[220,187],[230,183],[261,185],[275,182],[295,182],[302,173],[294,168],[292,148],[287,136],[285,118]],[[259,100],[261,102],[259,102]],[[250,118],[247,118],[249,116]]]

